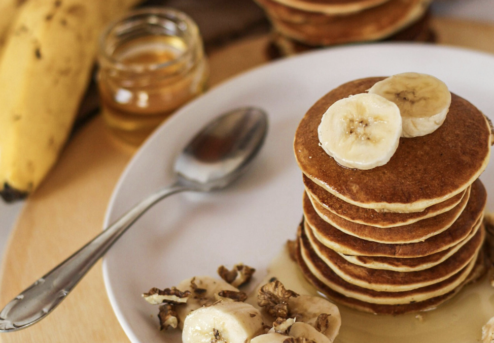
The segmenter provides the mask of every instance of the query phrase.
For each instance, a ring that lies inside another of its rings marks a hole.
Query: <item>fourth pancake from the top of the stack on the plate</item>
[[[440,234],[416,243],[385,244],[348,235],[326,223],[313,209],[311,211],[310,203],[304,206],[304,224],[306,229],[312,230],[317,240],[341,254],[396,258],[422,257],[444,251],[464,240],[472,230],[477,230],[482,222],[486,201],[485,188],[480,180],[476,180],[472,184],[467,207],[453,225]]]

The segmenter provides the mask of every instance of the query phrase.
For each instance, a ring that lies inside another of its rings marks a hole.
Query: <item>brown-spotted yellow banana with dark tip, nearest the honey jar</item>
[[[32,192],[55,164],[91,77],[109,20],[138,0],[33,0],[0,60],[0,195]]]

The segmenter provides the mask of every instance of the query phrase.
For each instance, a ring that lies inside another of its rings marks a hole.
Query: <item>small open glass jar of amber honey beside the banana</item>
[[[169,8],[145,8],[111,24],[99,43],[102,116],[138,145],[205,89],[208,67],[195,22]]]

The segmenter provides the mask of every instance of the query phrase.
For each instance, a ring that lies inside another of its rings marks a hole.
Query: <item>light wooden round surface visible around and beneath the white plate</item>
[[[433,18],[439,44],[494,54],[494,23]],[[209,54],[211,85],[267,63],[268,36]],[[100,232],[120,173],[134,150],[116,142],[99,116],[69,142],[41,188],[27,199],[7,243],[0,306]],[[41,323],[0,335],[2,343],[128,342],[104,289],[101,262]]]

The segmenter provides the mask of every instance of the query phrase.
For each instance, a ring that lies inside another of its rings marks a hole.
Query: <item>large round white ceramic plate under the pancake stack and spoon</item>
[[[170,287],[193,275],[215,275],[219,265],[238,262],[256,267],[262,275],[287,239],[295,237],[301,219],[303,185],[292,142],[306,110],[344,82],[408,71],[435,75],[451,91],[494,116],[494,56],[442,46],[375,44],[312,52],[245,73],[210,90],[160,127],[121,176],[105,226],[137,200],[171,182],[175,156],[211,118],[252,105],[264,108],[270,120],[265,146],[248,174],[219,193],[179,194],[164,200],[105,257],[108,295],[130,340],[174,340],[159,332],[156,307],[140,296],[151,287]],[[491,162],[481,177],[489,192],[490,211],[494,210],[493,176]],[[489,306],[479,310],[492,310],[494,315],[494,307]],[[344,320],[343,325],[350,324]],[[479,337],[472,337],[472,342]],[[345,342],[350,343],[350,338]]]

